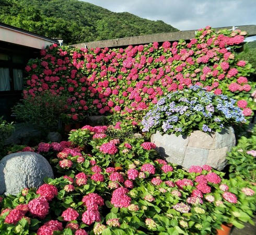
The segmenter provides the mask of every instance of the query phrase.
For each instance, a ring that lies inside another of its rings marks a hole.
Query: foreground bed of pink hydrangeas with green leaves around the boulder
[[[120,142],[107,128],[84,126],[34,149],[56,178],[0,197],[3,234],[215,234],[223,222],[253,223],[255,186],[207,165],[184,171],[153,143]]]

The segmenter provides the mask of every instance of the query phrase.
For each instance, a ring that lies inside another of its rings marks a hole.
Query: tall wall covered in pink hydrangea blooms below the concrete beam
[[[254,69],[234,53],[245,35],[206,27],[189,42],[91,50],[52,45],[28,63],[24,96],[45,90],[68,96],[66,113],[73,120],[113,112],[135,117],[169,92],[201,85],[237,99],[243,114],[250,116],[255,83],[248,77]]]

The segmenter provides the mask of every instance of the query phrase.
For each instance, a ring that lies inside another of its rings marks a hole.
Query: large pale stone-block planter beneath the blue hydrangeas
[[[235,146],[236,138],[232,127],[222,132],[207,134],[194,131],[190,136],[164,134],[152,135],[151,142],[156,150],[168,162],[189,169],[191,166],[209,166],[223,170],[226,166],[226,154]]]

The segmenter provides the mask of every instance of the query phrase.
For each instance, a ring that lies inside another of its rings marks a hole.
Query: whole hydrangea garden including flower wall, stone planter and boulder
[[[189,42],[42,50],[13,108],[40,134],[6,142],[15,125],[0,123],[1,234],[253,224],[254,69],[236,56],[245,36],[206,27]]]

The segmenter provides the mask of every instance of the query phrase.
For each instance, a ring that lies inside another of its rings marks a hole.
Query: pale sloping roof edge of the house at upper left
[[[32,33],[1,22],[0,41],[36,49],[45,49],[46,46],[54,43],[59,44],[57,39],[47,38],[37,33]]]

